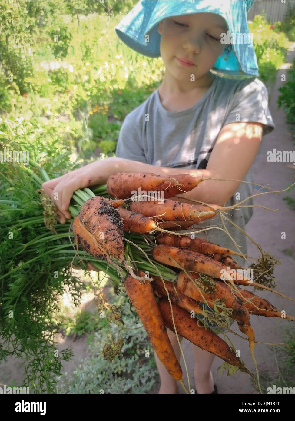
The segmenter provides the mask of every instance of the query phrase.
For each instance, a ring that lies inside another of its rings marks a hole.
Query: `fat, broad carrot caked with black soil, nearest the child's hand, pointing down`
[[[84,203],[78,218],[96,239],[99,247],[107,255],[124,264],[125,247],[122,222],[118,210],[108,205],[109,203],[104,197],[92,197]],[[87,239],[85,238],[85,240]],[[96,253],[96,250],[93,251]]]

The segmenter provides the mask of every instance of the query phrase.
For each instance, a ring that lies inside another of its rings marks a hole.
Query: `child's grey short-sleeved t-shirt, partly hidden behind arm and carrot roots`
[[[205,169],[221,128],[237,121],[262,123],[263,136],[274,130],[266,86],[255,77],[231,80],[215,75],[205,95],[191,108],[180,112],[167,111],[162,106],[157,89],[125,117],[116,156],[162,167]],[[232,178],[230,173],[228,178]],[[251,168],[244,180],[254,181]],[[220,183],[222,188],[222,181]],[[239,199],[236,193],[240,194]],[[226,206],[234,205],[253,194],[251,184],[240,183]],[[252,199],[245,203],[252,204]],[[231,210],[226,216],[245,230],[252,216],[252,208]],[[245,235],[228,221],[224,222],[242,252],[247,253]],[[210,226],[223,228],[221,218],[214,217],[194,225],[194,228]],[[219,229],[210,229],[196,236],[237,250],[229,236]],[[244,262],[239,258],[237,260]]]

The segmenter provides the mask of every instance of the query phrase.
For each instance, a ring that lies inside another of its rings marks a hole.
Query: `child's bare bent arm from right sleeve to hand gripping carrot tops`
[[[71,218],[68,211],[72,194],[77,189],[105,184],[114,173],[155,173],[158,175],[190,174],[202,178],[242,180],[249,171],[262,136],[260,123],[230,123],[216,140],[206,170],[159,167],[123,158],[106,158],[43,183],[43,189],[55,201],[61,223]],[[189,199],[224,205],[239,186],[239,181],[203,181],[186,193]],[[58,196],[56,196],[58,193]],[[183,195],[179,195],[182,197]],[[58,199],[56,198],[58,197]],[[179,199],[178,199],[179,200]]]

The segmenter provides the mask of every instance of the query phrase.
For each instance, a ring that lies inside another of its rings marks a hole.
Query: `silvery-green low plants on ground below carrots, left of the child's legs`
[[[157,377],[153,349],[137,314],[130,311],[125,301],[120,305],[124,325],[111,324],[92,336],[88,346],[90,357],[74,371],[72,378],[66,374],[58,377],[57,393],[149,393]],[[104,345],[124,339],[123,357],[116,356],[109,362],[103,356]]]

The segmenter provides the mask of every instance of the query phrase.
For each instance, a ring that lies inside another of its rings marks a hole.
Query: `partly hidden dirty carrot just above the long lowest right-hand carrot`
[[[187,310],[188,312],[194,311],[197,314],[202,314],[202,308],[199,307],[194,301],[191,301],[189,297],[181,292],[177,288],[177,285],[173,282],[165,281],[165,287],[168,290],[170,300],[173,301],[174,304],[182,307],[183,309]],[[152,288],[154,291],[157,291],[162,296],[167,297],[167,291],[164,288],[163,281],[161,278],[154,276],[154,281],[151,282]]]

